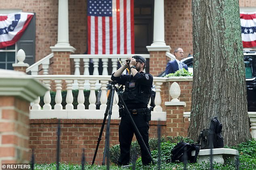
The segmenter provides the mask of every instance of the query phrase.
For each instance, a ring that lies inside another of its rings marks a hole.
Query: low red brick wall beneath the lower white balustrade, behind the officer
[[[103,120],[98,119],[62,119],[60,161],[80,164],[82,159],[82,148],[85,148],[86,162],[91,164],[102,121]],[[34,149],[37,163],[56,162],[57,123],[57,119],[30,120],[29,147]],[[120,120],[111,120],[110,145],[119,144],[119,123]],[[150,138],[157,138],[157,123],[157,121],[150,122]],[[162,125],[162,135],[165,135],[165,121],[159,121],[159,124]],[[95,164],[101,164],[103,160],[106,128],[107,124],[103,131]],[[136,138],[134,137],[134,140],[135,139]]]

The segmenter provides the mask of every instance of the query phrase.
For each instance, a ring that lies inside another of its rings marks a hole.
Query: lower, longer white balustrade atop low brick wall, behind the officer
[[[50,118],[59,118],[59,119],[102,119],[107,107],[107,84],[110,81],[111,76],[76,76],[76,75],[32,75],[40,82],[44,83],[48,87],[48,91],[44,95],[44,105],[40,106],[40,98],[38,97],[31,106],[30,110],[30,119],[50,119]],[[167,78],[154,77],[154,84],[156,90],[155,96],[155,110],[152,112],[152,120],[166,120],[166,112],[163,112],[161,105],[161,85],[165,82]],[[77,109],[74,109],[73,106],[73,94],[72,94],[72,84],[73,82],[78,82],[78,106]],[[99,109],[96,109],[96,100],[97,96],[95,93],[95,86],[97,81],[101,85],[101,105]],[[89,95],[89,106],[88,109],[85,109],[84,106],[84,84],[88,82],[90,87]],[[55,84],[55,86],[52,86]],[[50,104],[51,96],[50,90],[55,87],[56,96],[55,96],[55,106],[52,109]],[[63,88],[66,87],[66,88]],[[61,95],[62,90],[67,90],[67,96],[65,101],[67,104],[63,106],[61,104],[63,96]],[[65,109],[63,109],[65,108]],[[119,119],[118,115],[118,95],[115,92],[115,99],[113,105],[112,119]]]

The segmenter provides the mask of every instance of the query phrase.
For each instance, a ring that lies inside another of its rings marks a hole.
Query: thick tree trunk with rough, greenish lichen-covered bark
[[[238,0],[192,0],[193,90],[188,136],[197,139],[214,115],[224,145],[251,139]]]

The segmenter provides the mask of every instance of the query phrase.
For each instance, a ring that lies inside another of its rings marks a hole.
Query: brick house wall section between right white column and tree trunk
[[[181,47],[185,56],[193,54],[191,0],[165,0],[164,11],[165,41],[171,53]]]

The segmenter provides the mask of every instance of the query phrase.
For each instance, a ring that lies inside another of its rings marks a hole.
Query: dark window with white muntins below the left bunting
[[[13,63],[15,63],[16,45],[0,49],[0,68],[13,70]]]

